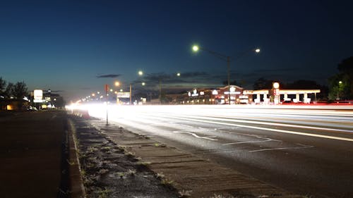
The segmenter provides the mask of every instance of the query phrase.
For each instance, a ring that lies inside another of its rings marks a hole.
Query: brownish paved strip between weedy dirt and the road
[[[148,163],[152,171],[163,175],[184,197],[302,197],[117,125],[107,126],[104,120],[90,123],[119,147]]]

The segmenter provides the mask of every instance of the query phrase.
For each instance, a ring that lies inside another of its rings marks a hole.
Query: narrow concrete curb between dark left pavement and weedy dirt
[[[69,172],[69,189],[71,198],[85,198],[85,187],[83,186],[83,180],[80,171],[80,161],[77,155],[76,145],[76,128],[73,125],[73,121],[68,119],[68,172]]]

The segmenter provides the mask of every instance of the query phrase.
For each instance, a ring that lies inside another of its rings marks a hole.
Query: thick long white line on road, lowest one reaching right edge
[[[261,128],[261,127],[254,127],[254,126],[249,126],[249,125],[239,125],[239,124],[232,124],[232,123],[220,123],[220,122],[215,122],[215,121],[198,120],[198,119],[193,119],[193,118],[179,118],[179,117],[174,117],[174,116],[164,116],[164,117],[177,118],[177,119],[181,119],[181,120],[193,120],[193,121],[203,122],[203,123],[213,123],[213,124],[217,124],[217,125],[238,126],[238,127],[243,127],[243,128],[253,128],[253,129],[257,129],[257,130],[268,130],[268,131],[289,133],[289,134],[295,134],[295,135],[305,135],[305,136],[311,136],[311,137],[321,137],[321,138],[326,138],[326,139],[331,139],[331,140],[343,140],[343,141],[353,142],[353,139],[345,138],[345,137],[318,135],[318,134],[311,134],[311,133],[305,133],[305,132],[295,132],[295,131],[291,131],[291,130],[280,130],[280,129],[273,129],[273,128]]]

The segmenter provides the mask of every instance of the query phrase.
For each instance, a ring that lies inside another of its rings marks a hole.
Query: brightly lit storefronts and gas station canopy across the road
[[[274,83],[275,85],[275,83]],[[170,104],[281,104],[283,102],[316,101],[320,89],[273,89],[245,90],[237,85],[216,89],[193,89],[184,94],[168,94]],[[230,92],[229,92],[230,91]],[[229,101],[230,99],[230,101]]]

